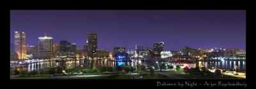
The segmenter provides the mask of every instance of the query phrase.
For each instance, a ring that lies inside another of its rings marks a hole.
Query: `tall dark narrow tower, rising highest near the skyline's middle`
[[[88,32],[88,55],[92,59],[97,57],[98,43],[97,43],[97,33]]]

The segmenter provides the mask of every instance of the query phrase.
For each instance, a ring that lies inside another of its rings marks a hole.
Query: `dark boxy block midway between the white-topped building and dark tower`
[[[70,43],[68,41],[60,41],[60,51],[61,52],[71,51]]]

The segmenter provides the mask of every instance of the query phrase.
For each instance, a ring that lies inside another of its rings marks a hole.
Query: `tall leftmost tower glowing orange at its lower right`
[[[26,34],[22,31],[14,33],[14,50],[18,54],[18,59],[26,59]]]

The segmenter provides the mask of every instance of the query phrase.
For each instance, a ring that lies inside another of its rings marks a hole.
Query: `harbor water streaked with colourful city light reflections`
[[[229,62],[228,62],[229,61]],[[236,63],[237,62],[237,63]],[[240,63],[241,62],[241,63]],[[136,67],[137,65],[149,65],[158,68],[161,64],[170,64],[170,65],[177,65],[177,62],[145,62],[141,60],[133,60],[132,62],[113,62],[108,60],[72,60],[70,61],[70,68],[80,67],[83,65],[83,68],[93,68],[93,67],[100,67],[100,66],[108,66],[112,67],[113,69],[116,66],[126,65]],[[26,67],[20,67],[20,71],[40,71],[41,69],[47,69],[49,67],[66,67],[67,68],[68,62],[40,62],[35,64],[29,64]],[[197,62],[196,65],[200,67],[200,69],[204,66],[206,68],[218,68],[218,69],[233,69],[234,65],[238,66],[239,71],[246,71],[246,62],[245,61],[233,61],[225,60],[221,62]]]

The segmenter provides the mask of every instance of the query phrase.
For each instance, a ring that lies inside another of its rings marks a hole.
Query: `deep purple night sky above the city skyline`
[[[38,44],[44,32],[54,43],[67,40],[82,48],[87,32],[98,32],[98,49],[135,44],[164,50],[246,47],[245,10],[11,10],[13,32],[26,32],[29,45]]]

